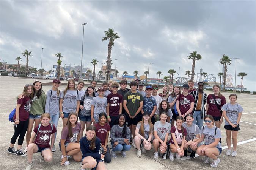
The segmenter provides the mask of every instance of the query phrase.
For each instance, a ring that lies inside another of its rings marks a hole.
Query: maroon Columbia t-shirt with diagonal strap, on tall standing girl
[[[216,106],[212,95],[214,94],[209,94],[207,97],[207,104],[209,104],[207,114],[210,114],[215,117],[221,117],[221,113],[218,110],[218,107]],[[214,95],[214,97],[220,108],[226,103],[226,98],[224,96],[218,97]]]

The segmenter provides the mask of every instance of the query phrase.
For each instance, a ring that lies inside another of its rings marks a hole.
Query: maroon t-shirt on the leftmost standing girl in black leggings
[[[24,97],[23,99],[18,99],[17,104],[21,105],[19,110],[20,121],[27,121],[29,118],[29,111],[32,104],[30,97]],[[13,120],[15,119],[16,119],[16,115],[14,114]]]

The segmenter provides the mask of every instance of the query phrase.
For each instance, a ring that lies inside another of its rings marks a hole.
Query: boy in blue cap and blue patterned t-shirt
[[[151,96],[153,88],[151,86],[146,86],[146,96],[143,101],[143,108],[141,114],[143,115],[144,111],[147,111],[150,114],[152,124],[155,123],[155,111],[157,110],[157,102],[153,96]],[[160,96],[159,96],[160,97]]]

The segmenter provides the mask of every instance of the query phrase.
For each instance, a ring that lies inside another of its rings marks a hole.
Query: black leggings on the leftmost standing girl
[[[28,120],[20,121],[20,123],[17,124],[17,127],[14,126],[14,134],[13,134],[13,137],[11,138],[11,144],[15,144],[17,138],[19,137],[18,145],[22,145],[27,129],[28,129]]]

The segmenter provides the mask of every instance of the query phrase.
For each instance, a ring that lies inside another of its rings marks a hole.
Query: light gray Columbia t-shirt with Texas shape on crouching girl
[[[161,121],[155,122],[154,125],[154,131],[157,131],[157,136],[164,141],[166,133],[171,132],[171,124],[168,122],[165,122],[165,124],[162,124]]]

